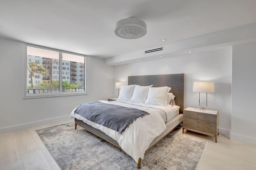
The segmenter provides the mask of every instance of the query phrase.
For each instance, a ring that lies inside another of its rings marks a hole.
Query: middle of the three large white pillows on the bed
[[[151,86],[139,86],[136,85],[132,94],[131,102],[139,102],[139,103],[145,103],[147,96],[148,96],[148,89]]]

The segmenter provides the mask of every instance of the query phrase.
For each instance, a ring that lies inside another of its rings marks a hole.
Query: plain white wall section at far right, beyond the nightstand
[[[256,43],[232,48],[230,139],[256,143]]]

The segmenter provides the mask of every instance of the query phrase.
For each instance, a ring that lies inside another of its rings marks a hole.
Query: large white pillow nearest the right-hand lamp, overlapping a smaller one
[[[168,96],[168,92],[171,90],[170,87],[150,87],[148,90],[148,97],[145,104],[151,105],[166,105],[166,98]]]

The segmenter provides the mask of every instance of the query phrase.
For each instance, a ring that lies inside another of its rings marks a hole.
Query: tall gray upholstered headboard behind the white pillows
[[[184,109],[184,74],[162,74],[146,76],[128,76],[128,85],[138,84],[140,86],[162,87],[168,86],[176,98],[176,105],[180,106],[180,113]]]

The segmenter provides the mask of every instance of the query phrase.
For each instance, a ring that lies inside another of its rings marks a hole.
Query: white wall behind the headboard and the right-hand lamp
[[[231,129],[231,48],[169,58],[165,55],[158,60],[115,66],[114,81],[126,81],[127,83],[128,76],[177,73],[185,74],[185,107],[199,107],[199,94],[192,92],[194,81],[204,80],[215,83],[215,93],[208,93],[207,109],[219,111],[220,131],[229,136]],[[116,89],[114,96],[117,97]]]

